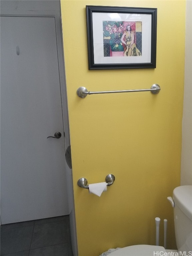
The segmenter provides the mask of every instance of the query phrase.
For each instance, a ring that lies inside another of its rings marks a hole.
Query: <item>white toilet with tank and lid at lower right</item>
[[[192,255],[192,186],[180,186],[173,190],[173,199],[168,198],[174,207],[175,237],[178,251],[182,255]],[[166,250],[156,245],[132,245],[118,249],[109,256],[164,256],[178,255],[176,250]],[[171,253],[172,252],[172,253]]]

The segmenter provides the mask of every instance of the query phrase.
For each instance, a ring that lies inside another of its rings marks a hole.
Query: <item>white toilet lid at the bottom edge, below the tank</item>
[[[154,256],[164,255],[164,253],[166,253],[166,250],[162,246],[142,244],[121,248],[110,253],[109,256]]]

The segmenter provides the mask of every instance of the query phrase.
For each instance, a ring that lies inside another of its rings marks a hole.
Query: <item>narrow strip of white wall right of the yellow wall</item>
[[[186,1],[185,86],[182,125],[181,185],[192,185],[192,0]]]

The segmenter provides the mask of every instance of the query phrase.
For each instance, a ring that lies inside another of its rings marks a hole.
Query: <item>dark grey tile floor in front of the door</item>
[[[1,256],[73,256],[69,216],[1,225]]]

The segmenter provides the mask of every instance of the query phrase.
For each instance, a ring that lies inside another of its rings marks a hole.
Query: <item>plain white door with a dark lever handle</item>
[[[55,18],[2,16],[0,33],[1,222],[69,214]]]

